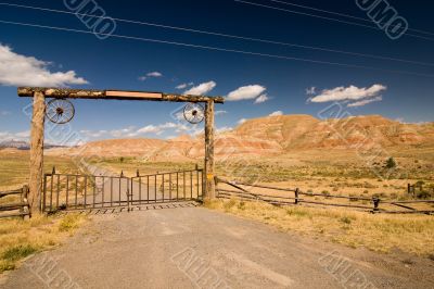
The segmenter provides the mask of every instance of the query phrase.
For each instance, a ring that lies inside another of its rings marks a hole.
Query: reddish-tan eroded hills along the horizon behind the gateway
[[[318,120],[311,115],[281,115],[247,120],[231,131],[216,136],[219,158],[256,158],[299,150],[368,151],[378,147],[434,147],[434,123],[404,124],[380,115]],[[152,161],[199,160],[203,138],[182,135],[174,139],[112,139],[80,148],[60,148],[47,153],[99,156],[139,156]]]

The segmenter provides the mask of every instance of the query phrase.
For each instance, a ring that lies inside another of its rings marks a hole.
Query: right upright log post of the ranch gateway
[[[206,102],[205,108],[205,196],[204,199],[216,198],[214,181],[214,101]]]

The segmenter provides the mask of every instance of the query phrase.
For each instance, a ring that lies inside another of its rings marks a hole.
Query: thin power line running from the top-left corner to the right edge
[[[90,15],[90,14],[80,14],[80,13],[74,13],[74,12],[71,12],[71,11],[54,10],[54,9],[40,8],[40,7],[21,5],[21,4],[12,4],[12,3],[4,3],[4,2],[3,3],[0,2],[0,5],[39,10],[39,11],[53,12],[53,13],[73,14],[73,15],[86,16],[86,17],[92,17],[92,18],[103,18],[103,16],[95,16],[95,15]],[[177,26],[169,26],[169,25],[155,24],[155,23],[149,23],[149,22],[140,22],[140,21],[132,21],[132,20],[125,20],[125,18],[116,18],[116,17],[112,17],[112,18],[114,21],[117,21],[117,22],[138,24],[138,25],[145,25],[145,26],[154,26],[154,27],[166,28],[166,29],[174,29],[174,30],[181,30],[181,32],[189,32],[189,33],[196,33],[196,34],[204,34],[204,35],[212,35],[212,36],[226,37],[226,38],[232,38],[232,39],[248,40],[248,41],[263,42],[263,43],[269,43],[269,45],[278,45],[278,46],[285,46],[285,47],[295,47],[295,48],[318,50],[318,51],[332,52],[332,53],[341,53],[341,54],[347,54],[347,55],[360,56],[360,58],[370,58],[370,59],[396,61],[396,62],[410,63],[410,64],[424,65],[424,66],[434,66],[434,63],[405,60],[405,59],[391,58],[391,56],[384,56],[384,55],[375,55],[375,54],[368,54],[368,53],[360,53],[360,52],[352,52],[352,51],[344,51],[344,50],[330,49],[330,48],[323,48],[323,47],[305,46],[305,45],[298,45],[298,43],[290,43],[290,42],[275,41],[275,40],[269,40],[269,39],[260,39],[260,38],[245,37],[245,36],[239,36],[239,35],[215,33],[215,32],[209,32],[209,30],[199,30],[199,29],[192,29],[192,28],[186,28],[186,27],[177,27]]]

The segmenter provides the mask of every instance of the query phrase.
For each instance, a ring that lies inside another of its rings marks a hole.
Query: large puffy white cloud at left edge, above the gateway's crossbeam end
[[[74,71],[51,73],[50,62],[25,56],[0,43],[0,85],[3,86],[55,86],[85,85]]]

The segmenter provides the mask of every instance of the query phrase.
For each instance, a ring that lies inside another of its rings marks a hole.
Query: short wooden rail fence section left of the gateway
[[[28,218],[30,216],[29,204],[27,200],[28,186],[24,186],[21,189],[11,191],[0,191],[0,200],[7,197],[18,196],[20,198],[13,198],[11,202],[0,203],[0,218],[2,217],[17,217]],[[18,199],[18,200],[15,200]]]

